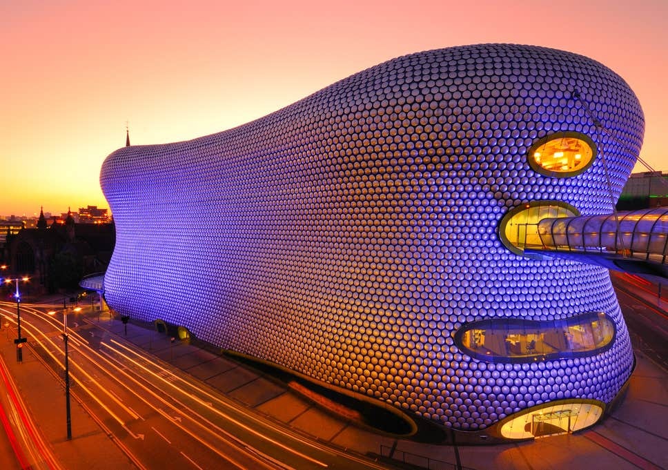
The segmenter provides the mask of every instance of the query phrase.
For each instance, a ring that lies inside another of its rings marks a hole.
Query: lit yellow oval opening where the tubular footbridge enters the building
[[[543,219],[574,217],[580,211],[562,201],[531,201],[508,211],[499,223],[499,238],[513,253],[542,259],[540,254],[529,255],[525,249],[540,250],[551,241],[544,240],[538,230],[538,222]]]

